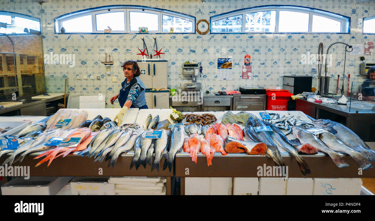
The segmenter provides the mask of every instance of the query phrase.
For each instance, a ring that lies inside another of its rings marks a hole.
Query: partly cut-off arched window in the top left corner
[[[29,15],[0,11],[0,33],[40,34],[40,19]]]

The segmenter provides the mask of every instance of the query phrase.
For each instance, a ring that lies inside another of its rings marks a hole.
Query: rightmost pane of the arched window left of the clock
[[[170,32],[171,28],[173,28],[173,32],[192,32],[193,22],[174,16],[163,15],[163,32]]]

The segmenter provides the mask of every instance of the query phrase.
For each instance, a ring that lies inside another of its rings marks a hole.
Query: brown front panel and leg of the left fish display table
[[[139,166],[138,170],[133,166],[130,168],[130,162],[134,156],[133,152],[121,154],[117,162],[112,168],[108,167],[108,161],[103,161],[102,163],[94,162],[93,158],[88,158],[87,156],[77,155],[76,153],[67,155],[66,157],[58,157],[54,159],[51,165],[48,165],[48,162],[43,163],[35,167],[35,165],[43,159],[33,159],[35,156],[38,156],[40,153],[32,153],[25,156],[24,160],[21,162],[16,162],[12,166],[30,166],[30,176],[59,176],[59,177],[166,177],[166,194],[171,195],[172,193],[172,179],[174,170],[172,169],[169,172],[169,169],[166,168],[163,171],[164,159],[160,161],[160,172],[157,172],[157,169],[154,169],[151,172],[151,166],[147,164],[146,168],[142,165]],[[6,158],[10,155],[1,156],[0,162],[4,162]],[[6,177],[4,177],[6,178]],[[6,180],[5,180],[6,182]]]

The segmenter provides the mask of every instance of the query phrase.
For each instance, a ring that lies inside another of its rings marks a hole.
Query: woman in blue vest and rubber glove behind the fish
[[[118,125],[122,123],[122,118],[129,110],[129,108],[148,109],[145,97],[145,85],[139,78],[141,71],[138,63],[135,60],[127,60],[121,65],[125,80],[121,83],[119,93],[111,97],[111,104],[118,99],[121,111],[115,116],[113,121],[118,120]]]

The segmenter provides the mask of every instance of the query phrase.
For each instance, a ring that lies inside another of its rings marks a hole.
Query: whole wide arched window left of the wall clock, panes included
[[[55,32],[62,33],[139,33],[147,27],[150,33],[195,33],[195,17],[164,9],[144,6],[104,6],[80,10],[55,18]]]

